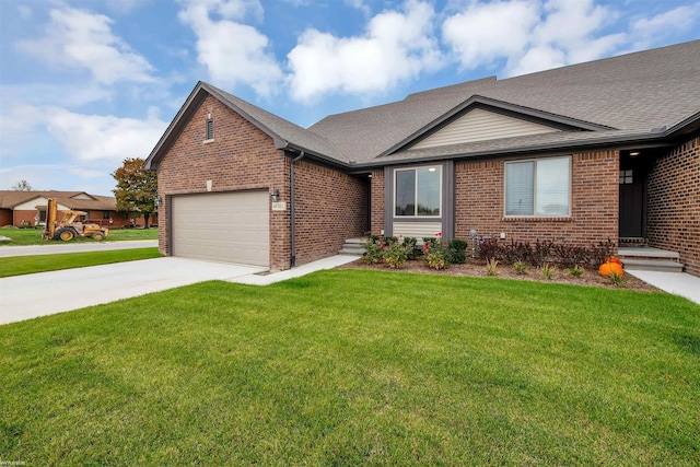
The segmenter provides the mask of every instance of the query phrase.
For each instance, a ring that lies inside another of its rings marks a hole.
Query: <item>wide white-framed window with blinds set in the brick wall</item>
[[[505,164],[505,215],[570,215],[571,157]]]

